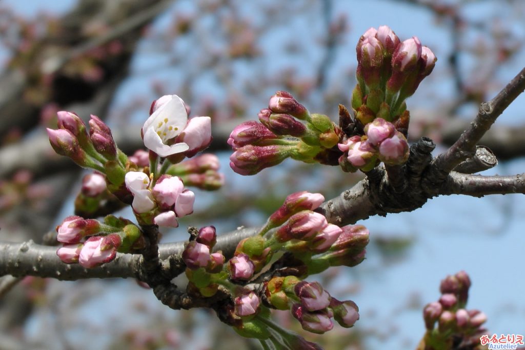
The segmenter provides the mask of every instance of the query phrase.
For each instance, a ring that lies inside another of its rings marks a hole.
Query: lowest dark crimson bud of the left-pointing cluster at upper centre
[[[240,175],[254,175],[262,169],[276,166],[290,154],[288,146],[252,146],[238,148],[230,156],[230,168]]]

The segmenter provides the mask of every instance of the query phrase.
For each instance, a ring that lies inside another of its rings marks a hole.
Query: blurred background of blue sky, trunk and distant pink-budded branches
[[[99,116],[131,155],[143,147],[151,101],[164,94],[181,96],[192,116],[212,117],[208,151],[219,156],[226,183],[195,190],[194,214],[165,231],[163,242],[187,239],[188,225],[213,224],[219,234],[259,225],[291,192],[335,197],[361,175],[287,160],[241,177],[228,166],[226,139],[277,90],[336,120],[338,104],[350,106],[355,45],[380,25],[401,40],[418,36],[438,58],[407,100],[411,141],[432,138],[436,154],[525,62],[520,0],[0,2],[0,240],[47,243],[72,214],[85,173],[49,146],[45,127],[56,127],[56,111]],[[525,170],[523,107],[520,96],[482,140],[500,160],[485,174]],[[523,195],[440,197],[360,223],[371,233],[367,259],[315,277],[335,297],[354,300],[361,320],[350,330],[304,334],[308,340],[327,349],[415,348],[423,306],[439,297],[440,280],[460,270],[472,280],[468,308],[488,315],[489,334],[525,333]],[[276,318],[301,331],[289,313]],[[233,346],[258,348],[211,312],[170,310],[130,280],[27,277],[0,300],[0,349]]]

